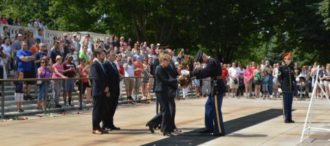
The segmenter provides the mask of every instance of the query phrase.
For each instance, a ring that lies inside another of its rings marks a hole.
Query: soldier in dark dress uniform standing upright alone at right
[[[278,69],[278,82],[283,93],[283,115],[285,123],[294,123],[292,120],[292,100],[294,98],[294,66],[292,65],[292,53],[283,54],[285,65]]]

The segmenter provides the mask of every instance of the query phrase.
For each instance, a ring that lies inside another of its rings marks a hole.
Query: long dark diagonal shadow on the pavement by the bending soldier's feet
[[[283,115],[282,109],[269,109],[264,110],[262,112],[258,112],[255,114],[250,114],[245,117],[241,117],[238,119],[233,119],[230,121],[225,121],[225,134],[230,134],[232,132],[236,132],[242,130],[246,127],[250,127],[252,125],[256,125],[258,123],[274,119],[275,117]],[[159,141],[154,141],[151,143],[146,143],[144,145],[201,145],[202,143],[206,143],[208,141],[212,141],[214,138],[219,138],[216,136],[208,136],[208,134],[199,134],[199,131],[203,130],[203,128],[199,128],[197,130],[192,130],[190,132],[184,132],[177,136],[168,137],[161,139]],[[236,134],[232,136],[239,137],[263,137],[267,136],[264,134]]]

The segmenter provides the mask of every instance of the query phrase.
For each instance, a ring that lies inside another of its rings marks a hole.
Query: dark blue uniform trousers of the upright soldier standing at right
[[[285,121],[292,120],[292,100],[294,99],[294,93],[283,92],[283,112],[285,115]]]

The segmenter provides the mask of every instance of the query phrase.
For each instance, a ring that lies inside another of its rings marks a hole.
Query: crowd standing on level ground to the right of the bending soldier
[[[240,62],[223,64],[223,80],[227,84],[228,96],[263,99],[278,97],[281,93],[281,88],[278,88],[278,69],[282,65],[284,62],[274,62],[271,65],[269,60],[262,61],[261,64],[251,62],[245,67]],[[315,80],[320,82],[320,86],[326,93],[323,94],[321,88],[317,86],[316,96],[320,99],[324,99],[325,95],[329,96],[330,64],[322,65],[316,79],[318,65],[318,62],[315,62],[313,66],[299,66],[298,63],[294,63],[294,95],[296,97],[310,97],[309,93],[314,88]]]

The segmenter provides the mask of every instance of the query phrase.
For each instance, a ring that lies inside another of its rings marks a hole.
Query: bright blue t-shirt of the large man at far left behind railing
[[[32,56],[32,52],[31,51],[28,51],[28,50],[19,50],[17,52],[17,64],[19,65],[18,67],[18,71],[31,71],[32,69],[32,64],[33,64],[33,61],[30,61],[30,62],[23,62],[22,60],[20,60],[19,58],[22,57],[22,56]]]

